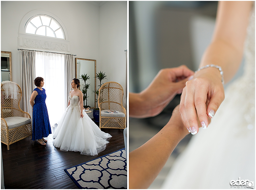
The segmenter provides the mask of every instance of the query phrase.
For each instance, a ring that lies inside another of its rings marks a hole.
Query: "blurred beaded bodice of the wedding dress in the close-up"
[[[234,100],[234,104],[243,113],[241,125],[245,126],[245,128],[238,127],[234,129],[240,135],[255,129],[255,2],[251,9],[247,27],[244,60],[243,75],[230,85],[227,96],[225,95],[226,97],[231,97]]]

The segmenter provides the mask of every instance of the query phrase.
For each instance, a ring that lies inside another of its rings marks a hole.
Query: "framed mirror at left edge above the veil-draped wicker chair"
[[[12,53],[1,51],[1,82],[12,81]]]

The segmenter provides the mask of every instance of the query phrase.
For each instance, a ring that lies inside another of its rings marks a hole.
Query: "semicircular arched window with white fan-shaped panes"
[[[61,25],[46,14],[32,16],[25,26],[26,33],[65,39]]]

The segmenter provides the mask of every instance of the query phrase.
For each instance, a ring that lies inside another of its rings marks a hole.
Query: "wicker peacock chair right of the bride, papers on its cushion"
[[[100,87],[98,106],[100,108],[100,129],[125,129],[126,110],[123,107],[123,87],[119,83],[106,82]]]

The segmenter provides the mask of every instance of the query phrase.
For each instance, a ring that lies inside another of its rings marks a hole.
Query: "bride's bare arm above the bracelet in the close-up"
[[[200,67],[209,64],[222,67],[225,82],[230,81],[239,69],[252,6],[253,1],[218,2],[212,42]]]

